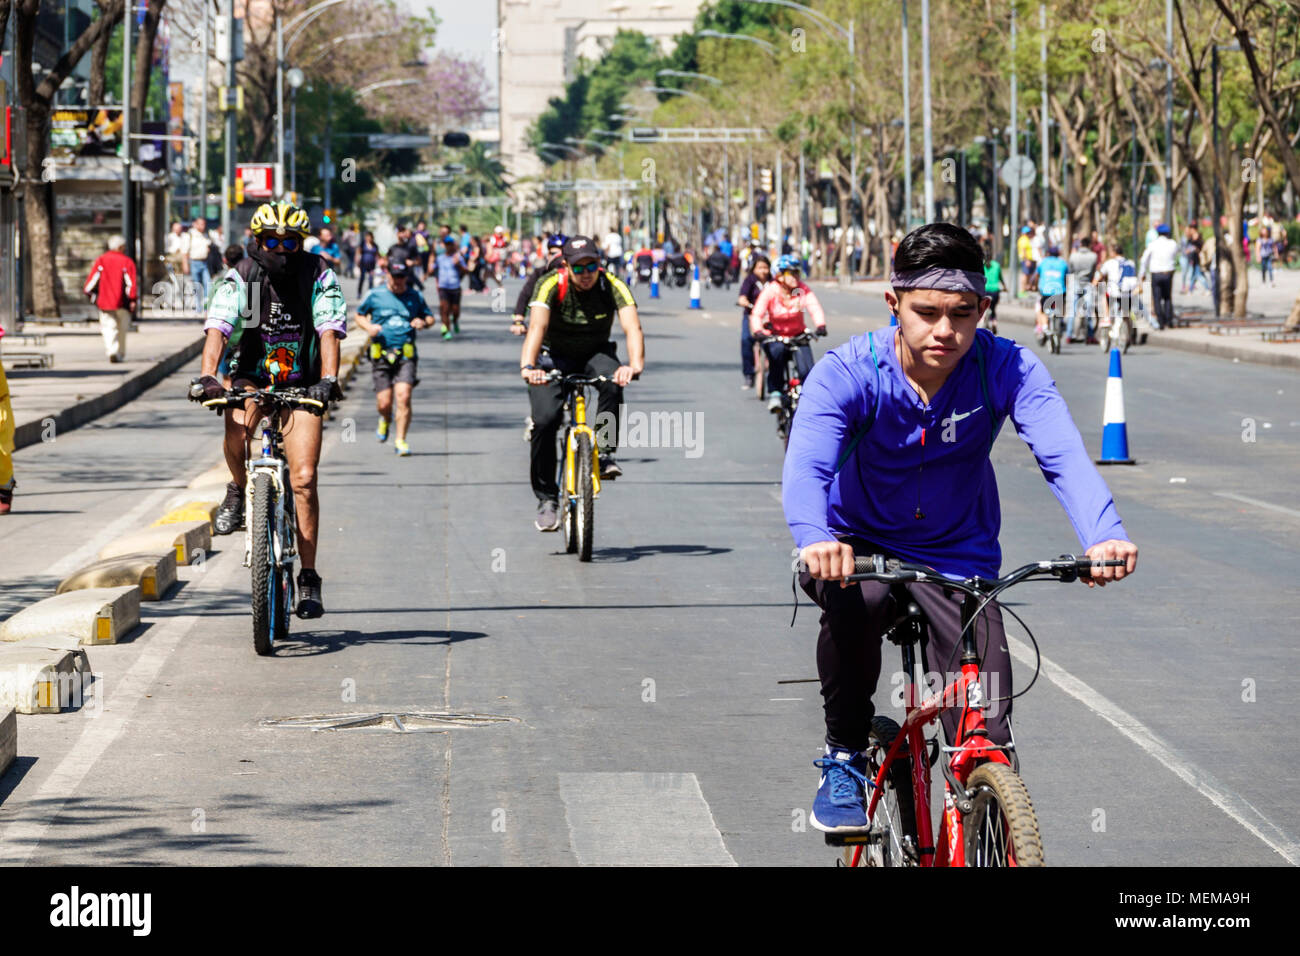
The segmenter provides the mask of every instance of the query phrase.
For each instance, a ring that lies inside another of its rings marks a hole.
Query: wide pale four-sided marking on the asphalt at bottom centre
[[[734,866],[694,774],[560,774],[582,866]]]

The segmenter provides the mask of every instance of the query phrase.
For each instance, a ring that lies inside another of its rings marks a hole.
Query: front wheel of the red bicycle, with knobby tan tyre
[[[967,866],[1045,866],[1030,791],[1005,763],[984,763],[966,782],[975,809],[962,829]]]

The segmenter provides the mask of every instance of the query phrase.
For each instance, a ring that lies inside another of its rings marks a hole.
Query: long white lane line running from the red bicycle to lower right
[[[1300,866],[1300,842],[1260,813],[1248,800],[1234,793],[1213,774],[1184,758],[1141,721],[1097,693],[1061,665],[1046,657],[1037,657],[1030,645],[1010,635],[1006,637],[1006,645],[1020,663],[1034,666],[1036,659],[1041,659],[1043,674],[1048,680],[1138,744],[1148,756],[1245,827],[1288,864]]]

